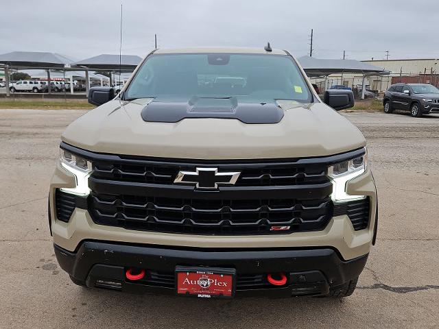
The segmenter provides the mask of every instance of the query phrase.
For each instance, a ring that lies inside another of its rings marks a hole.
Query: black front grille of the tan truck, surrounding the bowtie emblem
[[[362,152],[288,160],[186,161],[96,154],[63,143],[61,147],[93,162],[86,208],[95,223],[206,235],[323,230],[333,217],[327,168]],[[214,190],[174,183],[178,171],[200,167],[239,171],[239,179]],[[354,218],[353,209],[346,211]]]

